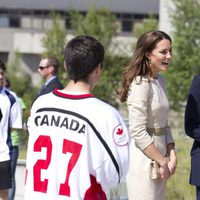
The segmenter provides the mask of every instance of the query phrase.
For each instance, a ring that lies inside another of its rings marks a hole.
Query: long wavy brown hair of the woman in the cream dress
[[[121,86],[117,91],[121,102],[127,100],[129,87],[137,76],[140,76],[138,84],[141,83],[142,76],[149,75],[152,77],[150,60],[146,55],[151,53],[156,48],[157,43],[163,39],[167,39],[172,43],[170,36],[163,31],[150,31],[139,37],[135,52],[123,71]]]

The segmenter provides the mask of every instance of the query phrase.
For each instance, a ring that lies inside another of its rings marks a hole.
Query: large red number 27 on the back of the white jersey
[[[36,140],[34,144],[34,152],[41,152],[42,148],[46,148],[46,159],[44,160],[37,160],[33,167],[33,177],[34,177],[34,191],[37,192],[47,192],[48,188],[48,179],[44,179],[44,181],[41,180],[41,170],[48,170],[48,167],[51,162],[51,156],[52,156],[52,141],[50,136],[44,136],[40,135],[38,139]],[[67,152],[70,152],[72,154],[67,166],[66,166],[66,178],[64,183],[60,183],[59,188],[59,195],[65,195],[70,197],[70,186],[69,186],[69,177],[70,173],[73,170],[80,152],[81,152],[82,145],[64,139],[62,144],[62,153],[67,154]],[[55,163],[52,163],[55,165]]]

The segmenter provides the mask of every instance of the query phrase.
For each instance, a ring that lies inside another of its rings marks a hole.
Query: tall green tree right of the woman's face
[[[171,107],[179,110],[187,98],[192,77],[200,71],[200,1],[174,0],[173,4],[173,60],[166,79]]]

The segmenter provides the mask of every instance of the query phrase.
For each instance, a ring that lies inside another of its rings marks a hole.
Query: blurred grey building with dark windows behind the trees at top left
[[[121,24],[119,37],[123,38],[149,14],[159,17],[159,0],[1,0],[0,59],[7,62],[18,51],[23,70],[37,79],[37,65],[44,51],[41,39],[53,26],[49,14],[60,14],[63,28],[70,30],[69,12],[85,15],[91,7],[111,10]]]

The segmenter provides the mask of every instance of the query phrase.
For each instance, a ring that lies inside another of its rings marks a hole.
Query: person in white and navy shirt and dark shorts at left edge
[[[0,146],[0,199],[8,199],[8,189],[12,185],[11,130],[22,128],[22,113],[17,98],[5,87],[5,64],[0,60],[0,110],[1,110],[1,146]]]

